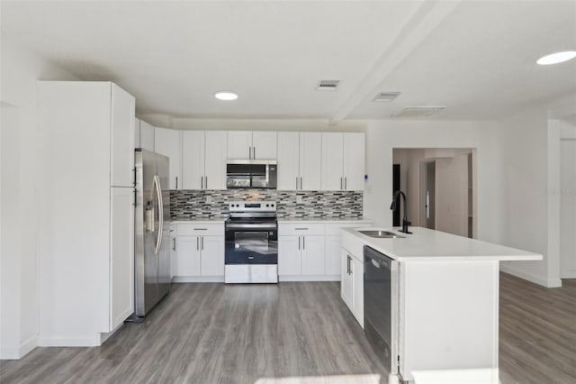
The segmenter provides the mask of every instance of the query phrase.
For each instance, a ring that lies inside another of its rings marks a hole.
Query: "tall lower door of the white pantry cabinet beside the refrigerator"
[[[111,189],[110,331],[134,312],[134,189]]]

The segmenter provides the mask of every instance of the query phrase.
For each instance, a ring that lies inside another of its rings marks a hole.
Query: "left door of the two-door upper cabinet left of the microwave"
[[[204,132],[182,133],[182,188],[201,189],[204,177]]]

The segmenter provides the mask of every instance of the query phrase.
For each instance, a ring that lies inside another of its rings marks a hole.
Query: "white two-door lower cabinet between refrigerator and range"
[[[173,281],[224,281],[224,224],[176,227]]]

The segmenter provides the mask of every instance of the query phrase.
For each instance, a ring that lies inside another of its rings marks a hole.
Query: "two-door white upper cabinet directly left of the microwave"
[[[226,189],[226,131],[182,133],[184,189]]]

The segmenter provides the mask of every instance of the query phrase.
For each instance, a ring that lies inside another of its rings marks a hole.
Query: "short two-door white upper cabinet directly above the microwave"
[[[276,160],[276,133],[229,131],[229,160]]]

